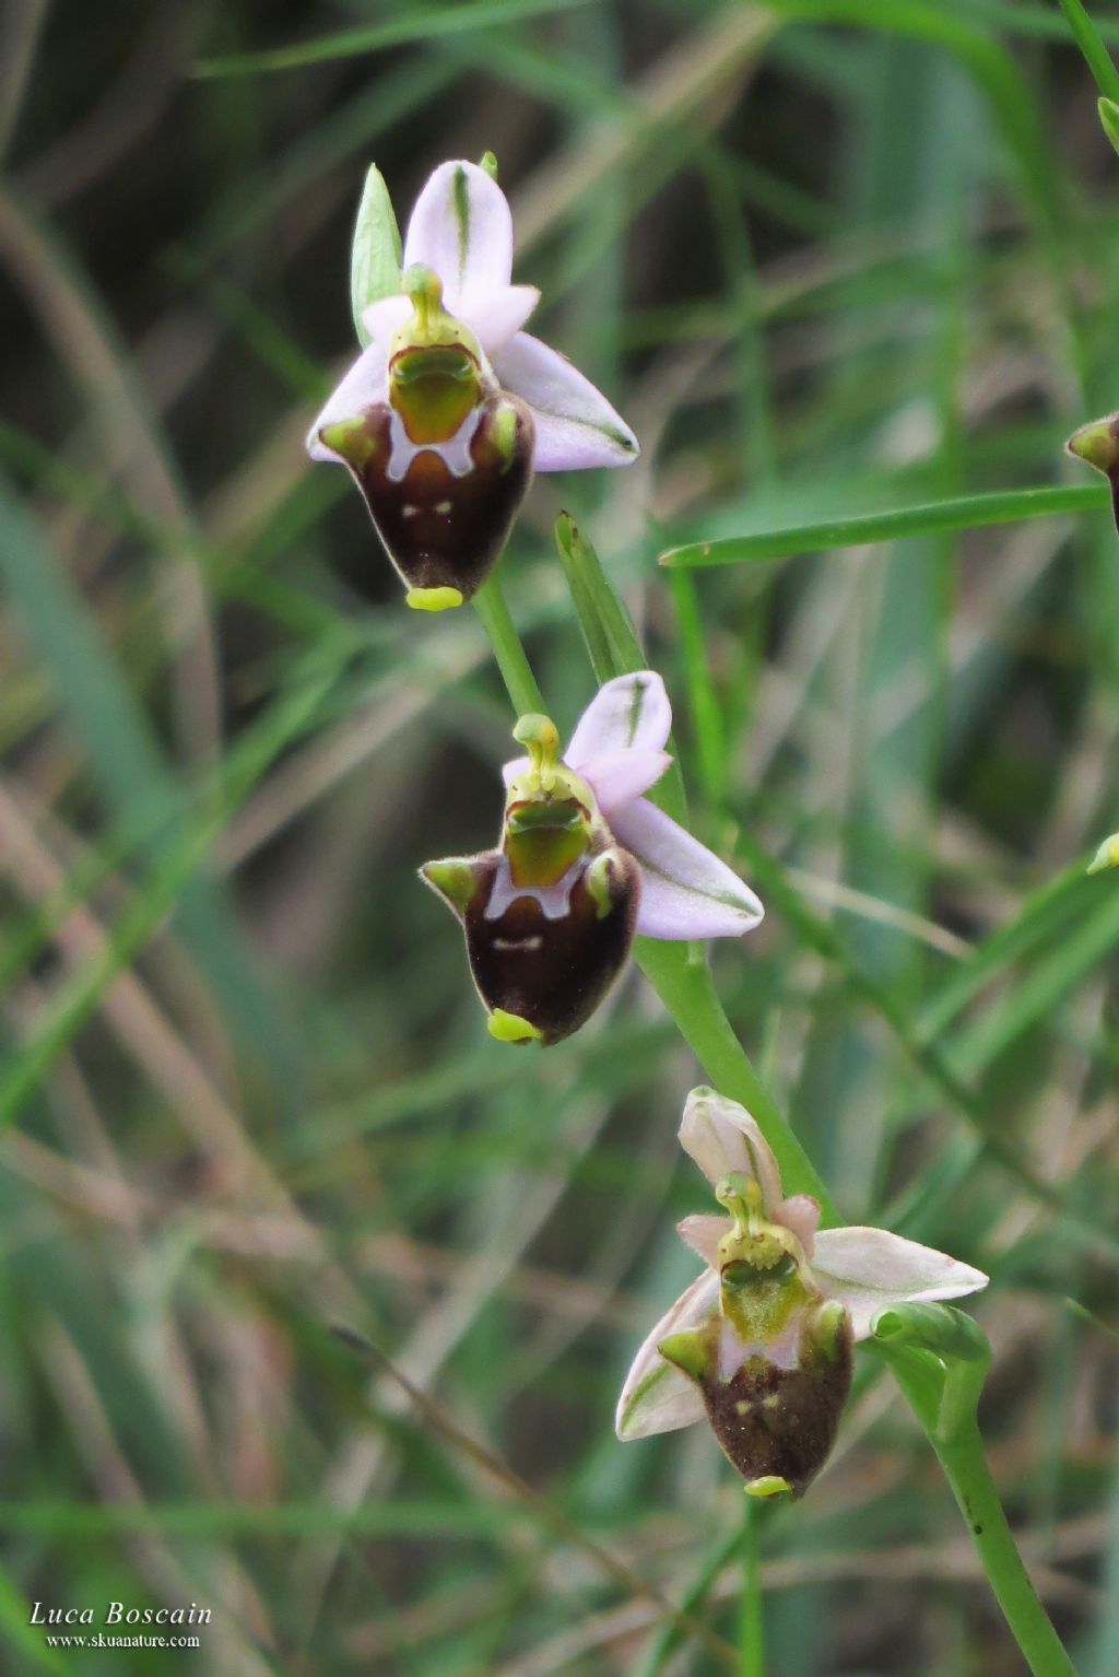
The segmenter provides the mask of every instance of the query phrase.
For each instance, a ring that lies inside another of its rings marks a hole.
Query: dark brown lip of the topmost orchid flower
[[[501,391],[482,397],[464,424],[476,426],[467,471],[451,470],[439,451],[444,444],[410,444],[409,451],[415,451],[395,480],[389,473],[400,421],[389,402],[379,402],[347,446],[347,465],[389,558],[409,587],[457,589],[469,600],[501,555],[528,493],[534,426],[524,402]],[[466,459],[461,438],[452,444],[457,449],[446,444],[447,458]],[[357,465],[360,456],[365,458]]]

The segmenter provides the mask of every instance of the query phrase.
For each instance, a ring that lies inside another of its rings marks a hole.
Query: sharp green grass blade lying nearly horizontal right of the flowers
[[[1102,506],[1107,506],[1107,491],[1094,483],[963,495],[950,501],[829,518],[719,542],[690,542],[687,547],[668,548],[660,555],[660,563],[688,570],[707,565],[742,565],[766,558],[791,558],[796,553],[826,553],[841,547],[975,530],[982,525],[1017,523],[1022,518],[1094,511]]]

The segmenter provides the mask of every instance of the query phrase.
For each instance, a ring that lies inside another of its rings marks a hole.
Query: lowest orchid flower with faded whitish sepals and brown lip
[[[886,1229],[817,1233],[816,1201],[784,1197],[761,1129],[712,1088],[688,1095],[680,1145],[725,1214],[677,1226],[707,1268],[633,1358],[616,1434],[707,1419],[750,1494],[801,1496],[834,1442],[853,1343],[878,1313],[975,1293],[987,1276]]]

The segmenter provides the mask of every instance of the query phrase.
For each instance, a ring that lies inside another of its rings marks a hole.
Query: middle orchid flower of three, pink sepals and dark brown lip
[[[740,937],[762,906],[725,862],[642,797],[672,761],[672,708],[652,669],[591,699],[560,755],[546,716],[513,736],[501,844],[429,862],[422,877],[454,909],[489,1031],[554,1043],[586,1023],[633,936]]]

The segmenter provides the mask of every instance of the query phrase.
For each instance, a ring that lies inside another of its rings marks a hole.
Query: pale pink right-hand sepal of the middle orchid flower
[[[620,810],[610,827],[642,864],[637,929],[645,937],[740,937],[762,919],[750,887],[647,798]]]

